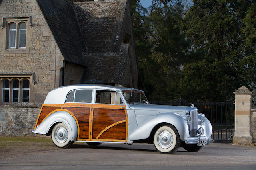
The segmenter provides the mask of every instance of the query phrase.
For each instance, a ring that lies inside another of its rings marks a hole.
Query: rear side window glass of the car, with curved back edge
[[[73,90],[68,94],[66,102],[92,103],[92,90],[91,89]]]

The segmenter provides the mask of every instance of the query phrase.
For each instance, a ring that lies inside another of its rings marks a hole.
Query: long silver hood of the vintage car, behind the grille
[[[132,104],[131,109],[134,109],[136,115],[156,115],[160,113],[179,113],[185,115],[186,111],[190,111],[191,107],[186,106],[167,106],[167,105],[155,105],[155,104]]]

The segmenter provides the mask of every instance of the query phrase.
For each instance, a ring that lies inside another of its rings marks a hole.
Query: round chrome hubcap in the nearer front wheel
[[[169,131],[161,131],[158,135],[158,145],[164,149],[169,148],[173,143],[172,133]]]

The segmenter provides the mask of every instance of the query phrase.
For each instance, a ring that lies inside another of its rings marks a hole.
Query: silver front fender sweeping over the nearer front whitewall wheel
[[[129,139],[131,141],[134,141],[148,138],[153,128],[159,123],[169,123],[174,125],[174,127],[176,127],[176,129],[178,130],[180,139],[182,141],[185,141],[186,137],[189,136],[188,125],[181,116],[176,115],[174,113],[162,113],[160,115],[153,117],[137,129],[135,129],[130,134]]]

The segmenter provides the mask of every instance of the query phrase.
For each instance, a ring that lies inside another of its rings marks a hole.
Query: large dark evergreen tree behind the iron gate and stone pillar
[[[191,56],[184,64],[180,94],[186,100],[230,100],[237,88],[254,87],[256,58],[246,46],[243,31],[243,19],[252,2],[193,2],[184,18]]]

